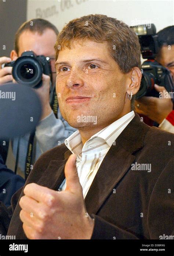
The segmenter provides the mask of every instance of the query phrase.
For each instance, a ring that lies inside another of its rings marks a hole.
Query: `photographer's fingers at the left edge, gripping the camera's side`
[[[12,81],[12,67],[1,67],[2,64],[11,62],[8,57],[0,57],[0,85]]]

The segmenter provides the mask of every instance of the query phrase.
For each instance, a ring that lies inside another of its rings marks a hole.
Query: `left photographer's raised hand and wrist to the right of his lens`
[[[42,116],[40,119],[42,120],[50,115],[52,111],[50,106],[50,77],[42,74],[42,86],[35,89],[35,91],[39,94],[42,103]]]

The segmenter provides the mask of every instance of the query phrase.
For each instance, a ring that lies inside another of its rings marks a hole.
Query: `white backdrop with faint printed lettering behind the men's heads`
[[[27,20],[44,18],[60,31],[73,18],[96,13],[128,25],[154,23],[159,31],[174,24],[174,0],[28,0]]]

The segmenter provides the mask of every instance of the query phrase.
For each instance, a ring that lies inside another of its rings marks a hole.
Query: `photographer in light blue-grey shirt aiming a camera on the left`
[[[55,56],[54,44],[58,34],[57,28],[49,21],[43,19],[33,19],[26,21],[21,25],[15,35],[14,50],[11,51],[10,57],[1,57],[0,64],[8,63],[11,60],[17,60],[25,50],[32,50],[36,55],[44,55],[50,57],[52,70],[52,91],[55,88]],[[0,84],[12,80],[12,67],[4,67],[0,69]],[[33,157],[32,163],[39,158],[39,156],[61,143],[64,143],[65,138],[72,134],[75,129],[70,127],[68,123],[62,118],[58,109],[57,117],[55,117],[50,106],[50,77],[43,74],[43,84],[36,90],[39,94],[42,105],[43,114],[39,125],[36,127],[35,141],[33,142]],[[19,154],[19,167],[21,171],[25,172],[25,161],[27,148],[29,143],[29,134],[22,138],[16,138],[13,141],[13,152],[16,157]],[[17,153],[19,150],[19,153]]]

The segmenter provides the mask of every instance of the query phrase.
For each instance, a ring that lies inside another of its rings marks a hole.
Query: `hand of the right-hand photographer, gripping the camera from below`
[[[168,93],[163,86],[155,84],[155,89],[158,92],[165,92],[165,95]],[[170,98],[142,97],[135,101],[135,111],[138,114],[148,116],[159,124],[172,110],[173,102]]]

